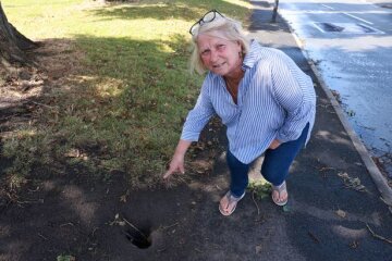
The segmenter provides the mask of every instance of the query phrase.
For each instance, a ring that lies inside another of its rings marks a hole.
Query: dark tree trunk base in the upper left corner
[[[29,63],[25,51],[37,47],[8,22],[0,2],[0,62],[3,65]]]

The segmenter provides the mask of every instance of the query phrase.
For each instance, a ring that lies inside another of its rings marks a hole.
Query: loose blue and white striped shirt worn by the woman
[[[253,40],[243,61],[237,104],[222,76],[209,72],[181,139],[197,141],[209,119],[218,114],[226,126],[230,151],[243,163],[261,156],[273,139],[295,140],[315,123],[316,94],[308,75],[282,51]]]

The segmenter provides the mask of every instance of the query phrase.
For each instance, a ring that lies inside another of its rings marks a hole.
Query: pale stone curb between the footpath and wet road
[[[283,18],[282,14],[280,12],[279,12],[279,14],[280,14],[281,18],[287,24],[291,35],[294,37],[294,39],[295,39],[297,46],[299,47],[302,53],[306,58],[308,64],[310,65],[310,69],[313,71],[313,73],[315,74],[315,76],[317,78],[317,82],[319,83],[322,90],[324,91],[328,99],[330,100],[334,111],[336,112],[336,114],[339,116],[339,120],[341,121],[344,129],[347,132],[351,140],[353,141],[356,151],[359,153],[362,160],[364,161],[368,173],[370,174],[372,181],[375,182],[378,190],[381,194],[381,197],[380,197],[381,201],[383,201],[389,207],[392,207],[392,188],[388,185],[387,178],[381,174],[380,170],[377,167],[377,165],[372,161],[369,151],[366,149],[365,145],[362,142],[362,140],[358,138],[358,135],[355,133],[355,130],[353,129],[353,127],[348,123],[348,120],[346,119],[346,116],[345,116],[342,108],[340,107],[338,100],[332,95],[332,91],[330,90],[330,88],[328,87],[326,82],[322,79],[321,73],[318,71],[318,69],[316,67],[314,62],[308,59],[308,55],[307,55],[307,53],[305,51],[303,42],[295,35],[293,28],[290,26],[287,21],[285,21]]]

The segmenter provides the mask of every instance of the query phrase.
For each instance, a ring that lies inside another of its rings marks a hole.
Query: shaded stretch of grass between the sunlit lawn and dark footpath
[[[59,52],[45,49],[66,45]],[[2,175],[14,162],[25,178],[29,171],[58,175],[82,167],[105,178],[122,173],[133,187],[161,184],[198,91],[199,78],[188,73],[185,37],[155,42],[77,35],[73,41],[52,39],[42,46],[38,61],[47,79],[40,94],[1,111],[0,120],[13,123],[2,125],[2,132],[32,133],[19,137],[24,148],[17,145],[11,156],[1,157]],[[73,53],[71,46],[85,52]],[[81,58],[87,67],[79,67]]]

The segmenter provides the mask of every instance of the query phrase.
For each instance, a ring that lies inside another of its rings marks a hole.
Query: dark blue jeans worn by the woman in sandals
[[[289,167],[299,150],[304,147],[309,124],[305,126],[296,140],[281,144],[277,149],[267,149],[261,165],[261,175],[273,186],[281,185],[289,175]],[[248,171],[250,164],[238,161],[228,149],[228,165],[230,169],[230,191],[235,197],[241,197],[248,185]]]

